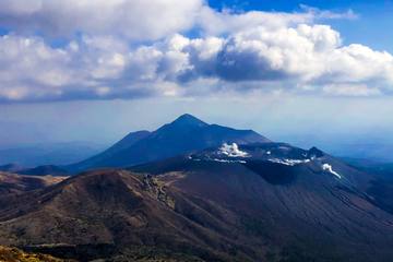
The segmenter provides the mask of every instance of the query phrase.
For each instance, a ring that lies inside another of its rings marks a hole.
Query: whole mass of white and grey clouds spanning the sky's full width
[[[354,19],[352,11],[234,13],[202,0],[154,2],[1,1],[0,27],[13,33],[0,37],[0,100],[392,91],[391,53],[345,46],[318,23]],[[70,38],[56,46],[48,35]]]

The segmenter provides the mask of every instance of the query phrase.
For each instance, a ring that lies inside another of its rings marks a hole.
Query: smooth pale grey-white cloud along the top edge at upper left
[[[157,39],[190,28],[203,0],[2,0],[0,24],[51,36]]]

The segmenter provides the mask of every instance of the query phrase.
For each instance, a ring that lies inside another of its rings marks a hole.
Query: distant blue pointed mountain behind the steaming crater
[[[186,114],[154,132],[130,133],[109,150],[67,168],[81,171],[97,167],[127,167],[218,146],[224,142],[246,144],[270,140],[252,130],[209,124]]]

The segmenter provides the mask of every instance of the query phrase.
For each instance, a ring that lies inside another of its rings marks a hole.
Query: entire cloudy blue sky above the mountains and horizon
[[[2,0],[0,147],[190,112],[299,145],[393,143],[393,1]]]

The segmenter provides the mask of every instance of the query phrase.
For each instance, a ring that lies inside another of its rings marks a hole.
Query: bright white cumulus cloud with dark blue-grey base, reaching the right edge
[[[257,27],[228,38],[217,57],[217,73],[231,81],[289,80],[300,85],[393,83],[392,55],[341,43],[327,25]]]

